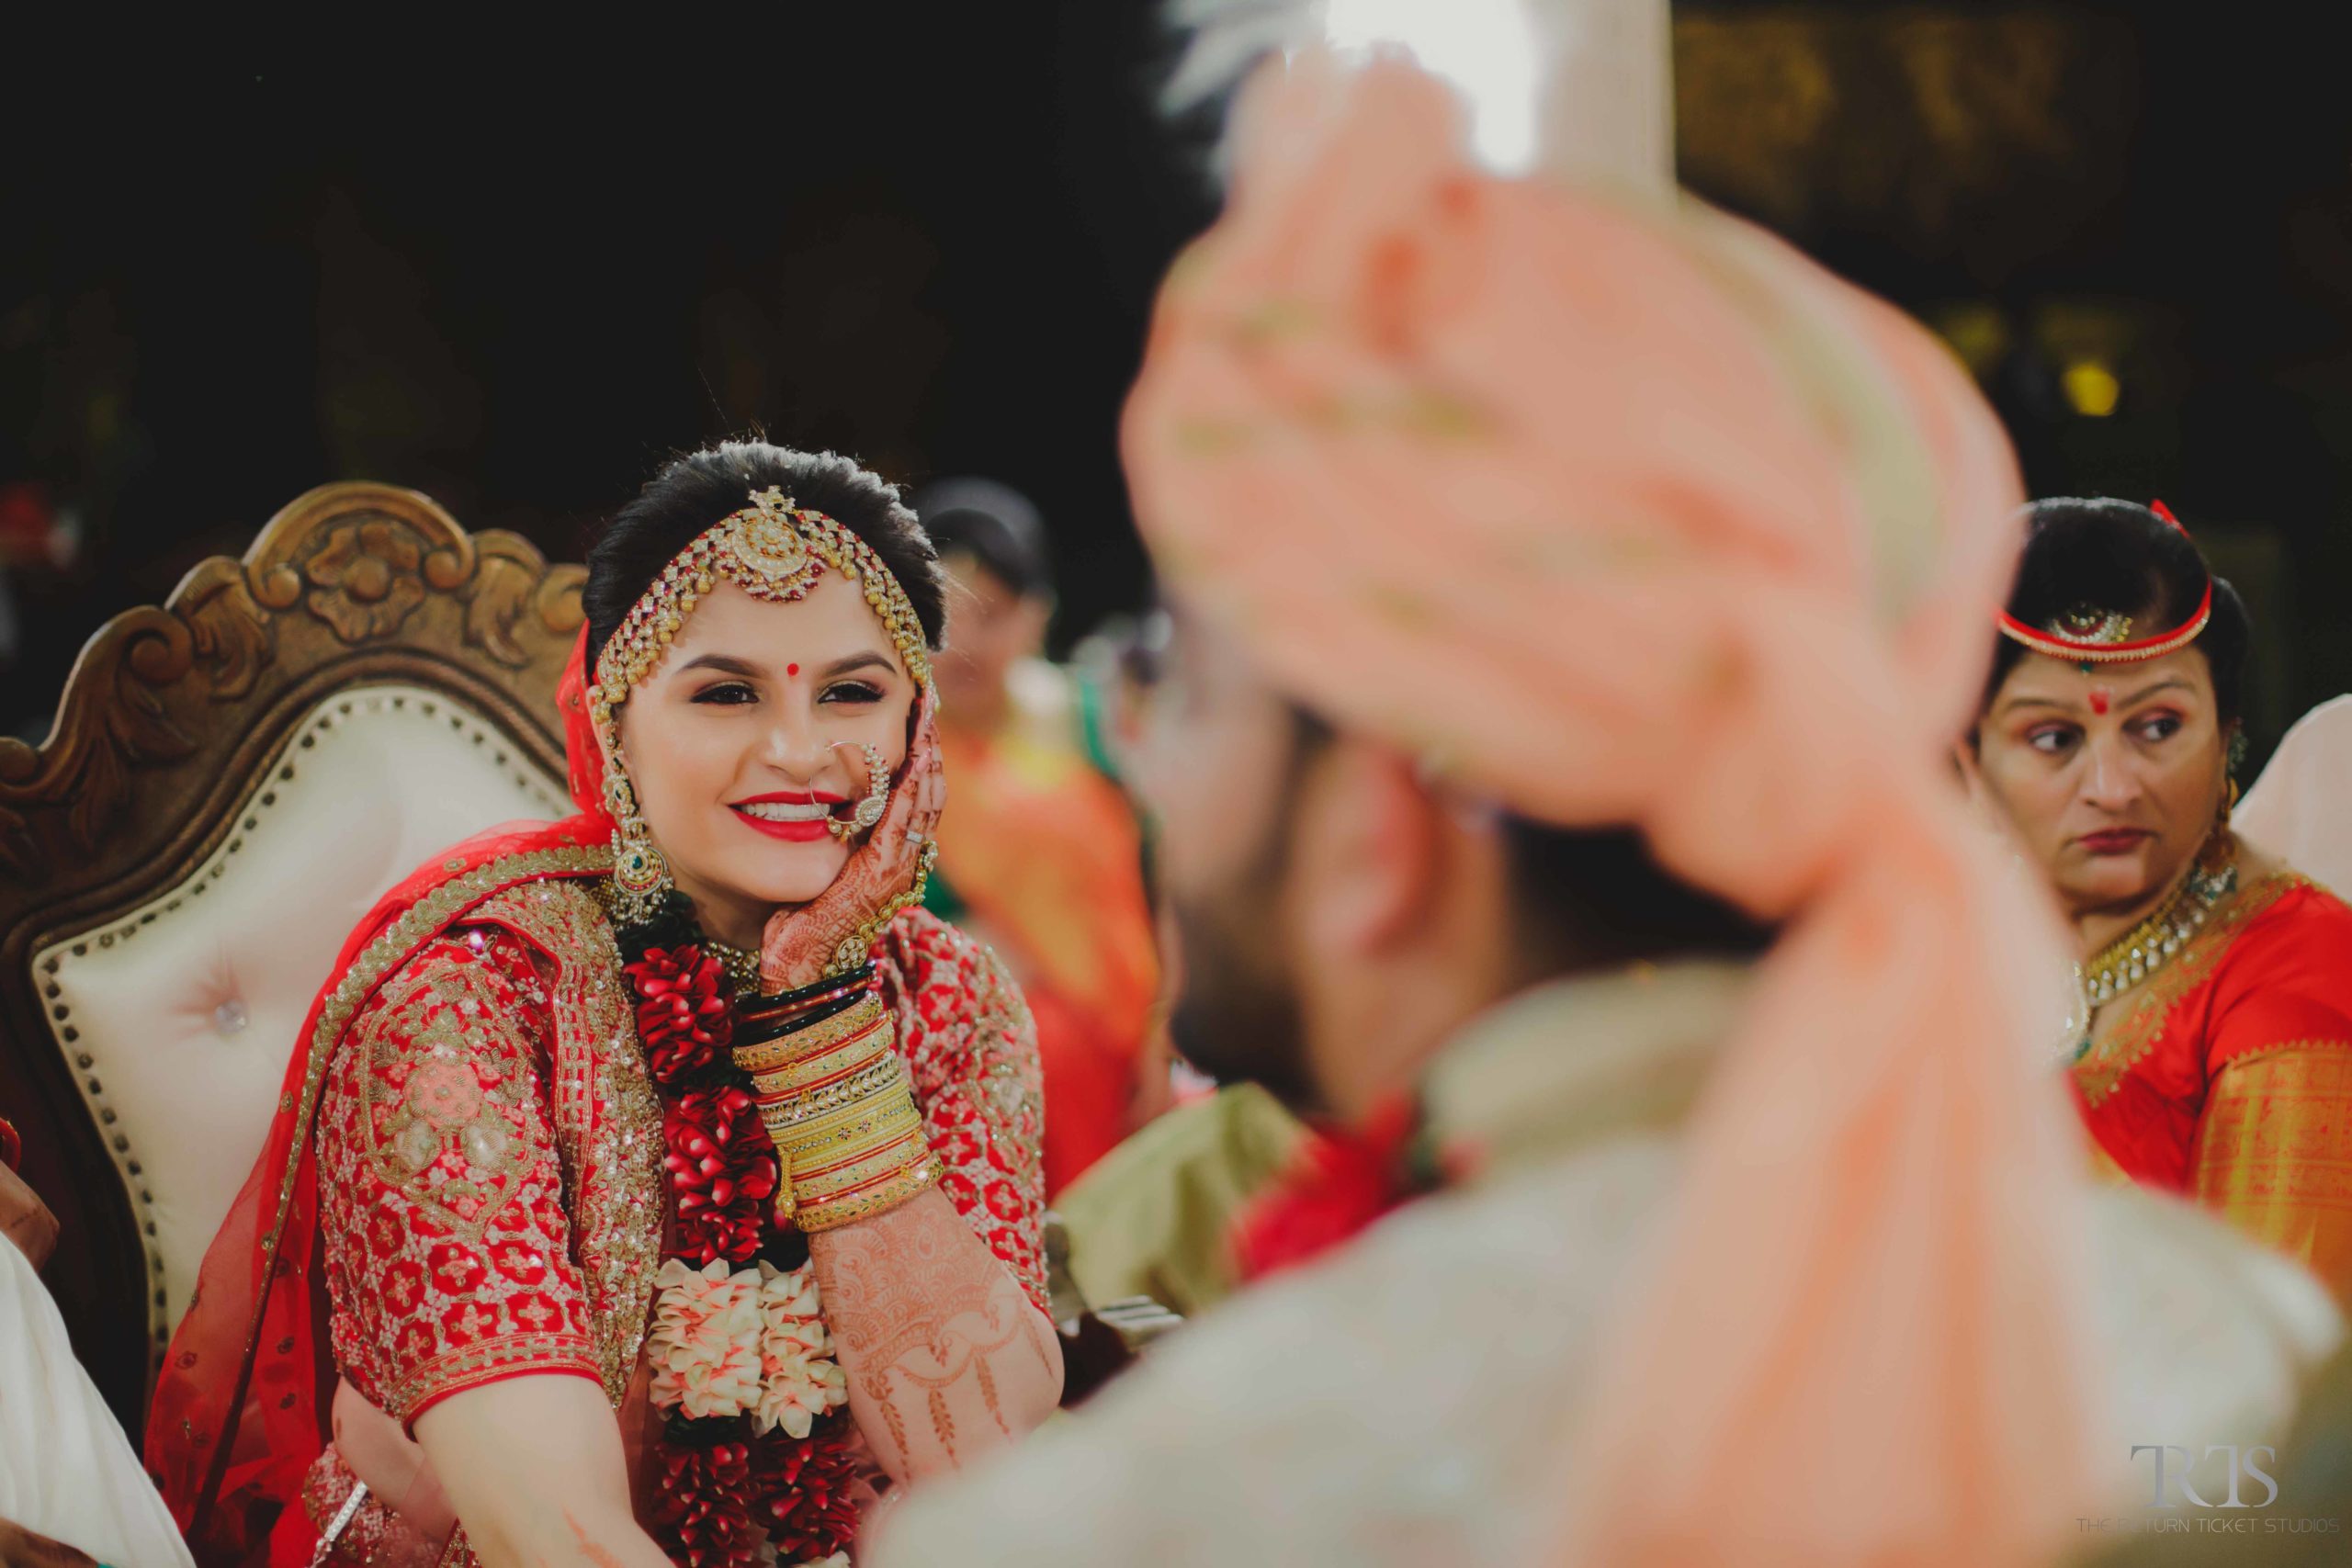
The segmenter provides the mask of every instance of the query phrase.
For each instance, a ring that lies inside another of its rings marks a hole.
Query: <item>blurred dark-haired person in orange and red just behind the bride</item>
[[[1037,1018],[1051,1199],[1164,1093],[1143,832],[1087,684],[1044,658],[1037,510],[993,480],[941,480],[917,512],[953,578],[938,745],[955,790],[927,903],[997,950]]]

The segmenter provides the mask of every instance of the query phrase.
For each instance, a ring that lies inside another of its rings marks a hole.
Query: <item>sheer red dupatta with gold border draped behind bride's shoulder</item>
[[[586,654],[583,628],[555,693],[579,813],[494,827],[409,875],[353,929],[303,1018],[261,1159],[205,1253],[148,1410],[148,1472],[200,1563],[259,1561],[329,1441],[336,1373],[310,1131],[343,1030],[400,964],[485,898],[609,867]]]

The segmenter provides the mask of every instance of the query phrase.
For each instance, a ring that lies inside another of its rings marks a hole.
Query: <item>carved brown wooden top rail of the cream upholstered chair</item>
[[[245,736],[223,708],[259,712],[360,651],[409,651],[456,689],[501,693],[536,719],[560,776],[553,693],[581,623],[581,578],[515,534],[468,534],[416,491],[327,484],[301,496],[245,559],[207,559],[165,607],[99,630],[40,748],[0,738],[0,875],[42,882],[66,858],[99,858],[146,773],[195,769],[200,752],[228,762]],[[139,804],[186,809],[188,783]],[[151,844],[151,825],[129,837]]]

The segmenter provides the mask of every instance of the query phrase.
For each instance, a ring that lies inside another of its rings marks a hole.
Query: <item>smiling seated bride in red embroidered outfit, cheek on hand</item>
[[[590,552],[579,816],[350,936],[172,1342],[202,1563],[842,1563],[1037,1425],[1037,1058],[913,907],[941,590],[837,456],[670,463]]]

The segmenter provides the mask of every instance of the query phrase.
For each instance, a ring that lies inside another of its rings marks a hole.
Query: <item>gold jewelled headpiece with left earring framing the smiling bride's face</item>
[[[755,599],[790,604],[807,597],[826,567],[866,592],[866,604],[882,621],[908,675],[929,689],[931,654],[922,639],[922,618],[891,569],[863,538],[823,512],[793,505],[774,484],[753,491],[750,505],[720,517],[663,567],[597,654],[595,684],[588,686],[588,722],[595,724],[612,759],[604,769],[604,809],[614,820],[614,914],[623,924],[642,924],[661,912],[670,867],[654,846],[644,816],[637,813],[637,792],[621,762],[614,710],[668,656],[677,628],[722,578]]]

